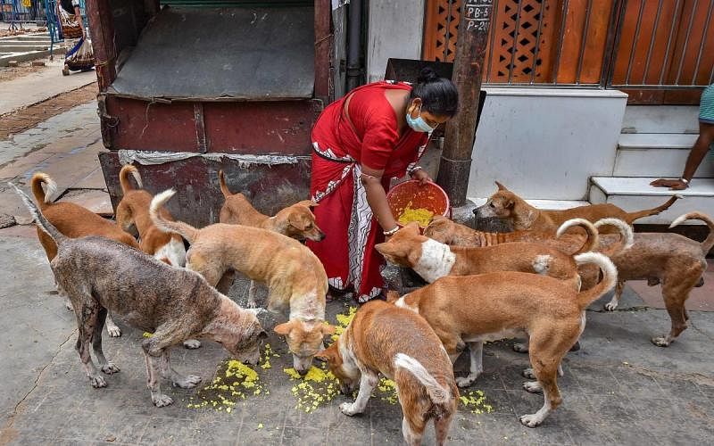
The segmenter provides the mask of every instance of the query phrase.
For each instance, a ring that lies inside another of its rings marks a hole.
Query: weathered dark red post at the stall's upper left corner
[[[99,91],[106,91],[117,77],[114,21],[109,0],[87,0],[87,18],[95,52]]]

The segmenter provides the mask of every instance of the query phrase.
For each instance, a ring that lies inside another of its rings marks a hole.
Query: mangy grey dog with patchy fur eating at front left
[[[17,187],[15,190],[21,194],[37,227],[57,246],[50,267],[59,286],[70,296],[77,315],[76,348],[93,387],[106,387],[106,381],[92,362],[90,345],[102,372],[107,375],[119,372],[102,350],[107,310],[124,315],[131,326],[154,333],[144,340],[142,348],[147,385],[156,407],[173,402],[162,393],[160,374],[183,388],[201,382],[200,376],[181,376],[170,367],[170,347],[188,337],[212,339],[237,359],[258,362],[261,340],[267,335],[252,311],[238,307],[198,274],[171,268],[125,244],[104,237],[62,235],[27,195]]]

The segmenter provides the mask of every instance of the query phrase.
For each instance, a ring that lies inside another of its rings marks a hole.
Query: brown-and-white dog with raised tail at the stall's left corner
[[[129,174],[137,181],[138,189],[131,186]],[[154,226],[149,218],[149,204],[153,198],[142,189],[141,176],[135,166],[127,164],[119,172],[119,182],[123,197],[117,206],[117,224],[125,231],[132,225],[137,227],[141,251],[153,255],[156,259],[183,268],[186,265],[186,248],[178,234],[167,234]],[[169,211],[162,209],[162,217],[173,220]]]

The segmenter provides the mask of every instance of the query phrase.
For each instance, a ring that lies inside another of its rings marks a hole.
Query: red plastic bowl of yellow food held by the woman
[[[411,202],[411,209],[428,209],[434,215],[448,216],[449,196],[436,183],[419,186],[419,181],[411,179],[394,187],[386,194],[386,202],[394,219],[399,219],[404,208]]]

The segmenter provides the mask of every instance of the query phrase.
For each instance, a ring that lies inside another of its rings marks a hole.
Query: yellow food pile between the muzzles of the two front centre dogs
[[[312,366],[305,376],[300,376],[295,368],[285,368],[283,371],[290,376],[290,381],[300,381],[293,386],[291,392],[297,400],[295,409],[303,410],[305,413],[314,412],[320,406],[332,401],[340,392],[337,378],[323,368]]]

